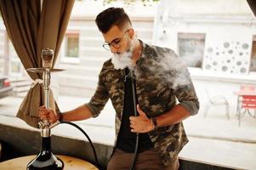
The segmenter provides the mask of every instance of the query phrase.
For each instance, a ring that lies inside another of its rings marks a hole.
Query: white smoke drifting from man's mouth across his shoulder
[[[122,54],[112,54],[111,62],[115,69],[124,69],[128,67],[135,73],[136,79],[141,78],[141,68],[134,67],[132,54],[135,47],[135,39],[130,43],[130,48]],[[168,50],[168,51],[166,51]],[[165,54],[158,56],[157,58],[146,59],[148,63],[145,63],[145,70],[143,74],[148,77],[159,77],[167,82],[168,85],[173,88],[180,88],[190,84],[189,72],[184,61],[174,53],[173,50],[166,49]],[[141,57],[148,58],[143,54]],[[146,77],[145,77],[146,78]]]

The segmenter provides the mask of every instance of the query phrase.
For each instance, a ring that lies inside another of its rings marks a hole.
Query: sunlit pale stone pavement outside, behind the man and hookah
[[[15,116],[22,99],[9,97],[0,100],[0,115]],[[60,111],[68,111],[86,103],[88,99],[59,96]],[[242,118],[241,127],[238,126],[235,109],[231,108],[230,120],[225,116],[223,106],[214,106],[208,116],[202,116],[204,105],[196,116],[184,121],[186,133],[190,142],[179,154],[186,160],[206,162],[214,165],[235,167],[236,169],[256,169],[256,119],[251,116]],[[14,126],[31,128],[25,122],[9,117],[0,122]],[[115,115],[111,102],[108,102],[99,117],[77,122],[94,142],[113,144]],[[52,133],[69,138],[84,139],[82,133],[74,127],[59,125]]]

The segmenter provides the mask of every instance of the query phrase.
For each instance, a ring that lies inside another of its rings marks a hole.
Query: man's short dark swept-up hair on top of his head
[[[131,20],[123,10],[123,8],[107,8],[97,15],[95,20],[96,25],[102,33],[106,33],[111,29],[112,26],[118,26],[118,28],[122,28],[122,26],[129,22],[132,26]]]

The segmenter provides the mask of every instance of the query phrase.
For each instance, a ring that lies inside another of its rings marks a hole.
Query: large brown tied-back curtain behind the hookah
[[[70,19],[74,0],[0,0],[3,22],[25,69],[42,67],[43,48],[54,50],[54,63]],[[33,81],[42,78],[27,72]],[[37,83],[23,99],[17,116],[32,127],[38,127],[38,107],[43,105],[43,89]],[[50,92],[50,107],[58,109]]]

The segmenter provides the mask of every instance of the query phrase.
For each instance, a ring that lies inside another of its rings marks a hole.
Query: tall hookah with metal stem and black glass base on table
[[[54,71],[63,71],[61,69],[53,69],[54,50],[45,48],[42,50],[43,68],[29,68],[27,71],[43,74],[43,92],[44,105],[49,108],[49,85],[50,73]],[[60,122],[50,124],[48,120],[38,122],[41,129],[42,147],[40,153],[30,161],[26,167],[27,170],[60,170],[64,168],[64,163],[59,158],[54,156],[51,150],[51,133],[50,129]]]

